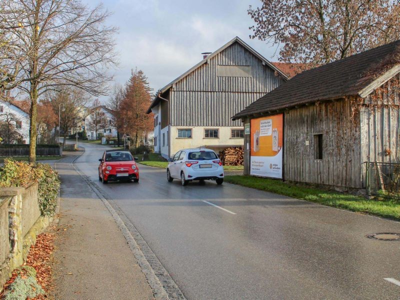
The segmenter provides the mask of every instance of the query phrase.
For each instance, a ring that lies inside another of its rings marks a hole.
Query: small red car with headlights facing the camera
[[[109,180],[133,180],[139,182],[139,168],[129,151],[107,150],[98,159],[98,180],[107,183]]]

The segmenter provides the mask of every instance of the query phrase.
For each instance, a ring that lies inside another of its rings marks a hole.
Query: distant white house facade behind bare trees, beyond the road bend
[[[96,108],[98,108],[99,113],[104,113],[103,115],[101,115],[101,119],[103,120],[104,123],[97,126],[97,134],[102,133],[103,136],[108,138],[116,137],[117,134],[116,128],[111,125],[111,119],[112,119],[111,111],[104,106],[98,106]],[[93,125],[90,126],[90,124],[93,124],[92,114],[89,114],[85,117],[84,128],[86,131],[87,139],[97,139],[96,131],[94,130]]]

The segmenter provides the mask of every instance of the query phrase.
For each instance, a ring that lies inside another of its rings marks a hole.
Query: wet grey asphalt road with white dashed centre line
[[[105,147],[83,146],[75,165],[115,201],[187,299],[400,299],[400,286],[384,279],[400,281],[400,241],[365,237],[400,232],[399,222],[227,183],[181,186],[143,165],[139,183],[102,185]]]

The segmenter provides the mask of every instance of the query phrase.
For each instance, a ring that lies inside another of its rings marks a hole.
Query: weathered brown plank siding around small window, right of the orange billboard
[[[343,99],[285,111],[285,180],[362,187],[359,113],[350,102]],[[315,159],[314,134],[320,133],[322,159]]]

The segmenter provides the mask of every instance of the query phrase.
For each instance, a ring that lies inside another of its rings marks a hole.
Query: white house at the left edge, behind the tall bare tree
[[[18,142],[29,143],[29,113],[24,111],[16,103],[0,100],[0,121],[8,122],[14,126],[20,135]],[[4,136],[1,136],[4,139]]]

